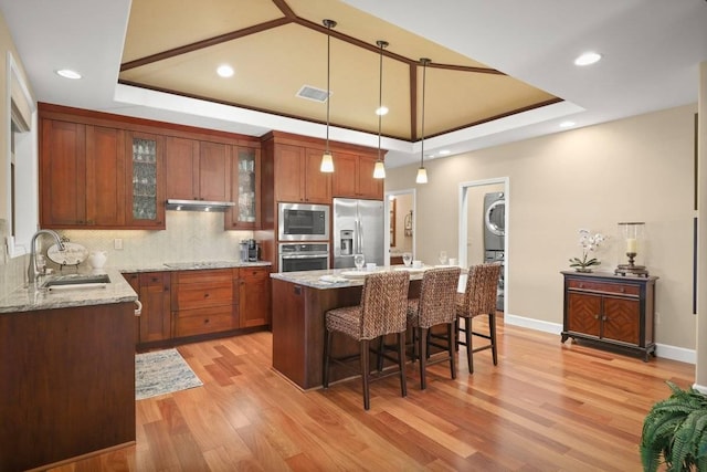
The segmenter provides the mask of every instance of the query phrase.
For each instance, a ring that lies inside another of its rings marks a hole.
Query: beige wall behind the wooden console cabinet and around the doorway
[[[577,231],[614,237],[599,252],[616,265],[616,223],[644,221],[647,266],[659,276],[659,344],[695,348],[694,114],[683,106],[425,162],[418,185],[416,250],[434,263],[457,248],[458,185],[508,178],[507,314],[562,323],[562,277],[579,255]],[[416,165],[390,169],[386,191],[414,186]],[[420,222],[424,222],[421,224]]]

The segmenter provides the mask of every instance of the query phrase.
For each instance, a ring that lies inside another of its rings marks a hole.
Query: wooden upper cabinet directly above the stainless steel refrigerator
[[[374,167],[374,158],[345,153],[335,154],[335,172],[331,177],[333,196],[381,200],[383,179],[373,178]]]

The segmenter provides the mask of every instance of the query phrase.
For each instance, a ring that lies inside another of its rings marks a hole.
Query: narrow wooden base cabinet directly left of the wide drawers
[[[138,276],[143,303],[138,346],[168,340],[172,337],[169,272],[144,272]]]

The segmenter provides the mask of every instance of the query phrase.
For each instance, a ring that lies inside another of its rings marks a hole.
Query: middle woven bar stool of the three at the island
[[[412,360],[420,358],[420,389],[428,387],[426,367],[433,364],[450,363],[452,378],[456,378],[455,336],[456,336],[456,289],[460,283],[460,268],[430,269],[422,276],[420,297],[408,301],[408,326],[412,328]],[[434,339],[445,339],[446,345],[432,340],[430,328],[446,325],[446,336],[434,335]],[[430,346],[446,348],[447,355],[430,357]]]

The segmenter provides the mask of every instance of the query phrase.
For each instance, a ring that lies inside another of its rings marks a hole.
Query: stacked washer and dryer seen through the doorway
[[[503,192],[484,196],[484,262],[505,263],[506,198]],[[498,280],[496,310],[504,310],[504,271]]]

